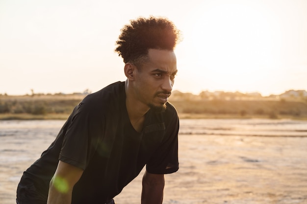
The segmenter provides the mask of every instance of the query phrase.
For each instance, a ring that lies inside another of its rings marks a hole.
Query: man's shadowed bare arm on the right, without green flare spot
[[[142,181],[142,204],[162,204],[164,174],[151,174],[145,171]]]

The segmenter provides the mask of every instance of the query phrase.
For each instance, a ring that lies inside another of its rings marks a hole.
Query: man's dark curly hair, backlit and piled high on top
[[[168,19],[140,17],[130,20],[130,24],[121,29],[115,51],[122,56],[124,63],[137,63],[147,56],[148,49],[174,50],[179,41],[180,31]]]

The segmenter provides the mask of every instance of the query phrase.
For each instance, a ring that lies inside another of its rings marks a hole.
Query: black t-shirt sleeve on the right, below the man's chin
[[[162,144],[155,150],[146,170],[152,174],[170,174],[178,171],[178,116],[167,126]]]

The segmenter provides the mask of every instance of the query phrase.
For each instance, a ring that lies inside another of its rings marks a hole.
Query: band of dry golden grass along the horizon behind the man
[[[0,95],[0,119],[66,119],[84,95]],[[175,98],[176,99],[176,98]],[[307,119],[304,100],[170,100],[180,118]]]

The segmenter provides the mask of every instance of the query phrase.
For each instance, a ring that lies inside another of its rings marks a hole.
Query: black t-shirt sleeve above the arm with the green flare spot
[[[72,114],[59,159],[85,170],[97,149],[99,136],[102,134],[102,119],[82,102]]]

